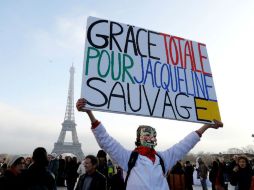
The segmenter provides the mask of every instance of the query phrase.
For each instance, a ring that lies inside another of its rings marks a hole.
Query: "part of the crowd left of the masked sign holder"
[[[0,160],[1,190],[121,190],[123,171],[113,165],[107,154],[87,155],[78,161],[71,156],[47,154],[43,147],[34,150],[32,157],[10,155]]]

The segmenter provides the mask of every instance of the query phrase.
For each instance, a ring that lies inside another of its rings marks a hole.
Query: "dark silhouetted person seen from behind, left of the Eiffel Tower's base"
[[[33,163],[29,166],[25,178],[28,189],[56,190],[54,174],[48,170],[47,151],[38,147],[33,152]]]

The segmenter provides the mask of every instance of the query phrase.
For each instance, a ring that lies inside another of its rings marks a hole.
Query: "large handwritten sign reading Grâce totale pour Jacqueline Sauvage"
[[[87,20],[81,97],[89,109],[220,120],[205,44],[95,17]]]

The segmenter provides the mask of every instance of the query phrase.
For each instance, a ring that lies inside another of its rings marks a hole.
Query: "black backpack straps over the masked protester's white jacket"
[[[136,161],[138,159],[138,155],[139,153],[138,152],[135,152],[135,151],[132,151],[131,153],[131,156],[130,156],[130,159],[128,161],[128,171],[127,171],[127,175],[126,175],[126,178],[125,178],[125,181],[124,181],[124,189],[126,189],[127,187],[127,181],[128,181],[128,178],[129,178],[129,175],[131,173],[131,170],[132,168],[135,166],[136,164]],[[161,169],[163,171],[163,174],[165,175],[165,166],[164,166],[164,162],[161,158],[161,156],[159,154],[156,153],[156,155],[159,157],[160,159],[160,165],[161,165]]]

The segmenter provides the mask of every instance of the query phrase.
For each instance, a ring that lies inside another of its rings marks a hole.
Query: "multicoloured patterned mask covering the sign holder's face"
[[[156,131],[150,126],[141,126],[139,130],[139,140],[141,146],[154,148],[157,145]]]

